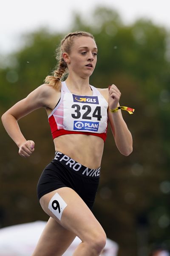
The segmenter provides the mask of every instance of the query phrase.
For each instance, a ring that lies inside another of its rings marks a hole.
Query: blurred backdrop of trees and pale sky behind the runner
[[[55,49],[68,32],[91,32],[98,63],[90,83],[116,84],[133,153],[122,156],[111,131],[105,143],[94,215],[119,256],[170,250],[170,9],[169,0],[3,2],[0,39],[0,113],[43,84],[56,65]],[[37,180],[54,157],[44,109],[19,121],[34,154],[23,159],[0,125],[0,227],[47,221]]]

